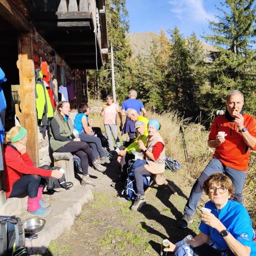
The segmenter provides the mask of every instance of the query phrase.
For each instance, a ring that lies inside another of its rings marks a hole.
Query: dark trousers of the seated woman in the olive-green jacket
[[[65,146],[58,148],[55,152],[70,152],[75,154],[81,159],[81,168],[83,175],[88,174],[88,158],[94,162],[95,157],[92,154],[92,150],[89,145],[84,141],[69,141]]]

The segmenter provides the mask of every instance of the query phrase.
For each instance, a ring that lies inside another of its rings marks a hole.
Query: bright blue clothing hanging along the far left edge
[[[4,142],[4,116],[5,116],[5,109],[6,109],[6,100],[4,97],[4,91],[2,89],[2,83],[4,83],[7,79],[5,78],[4,71],[0,68],[0,147],[3,145]],[[0,155],[0,158],[2,156]]]

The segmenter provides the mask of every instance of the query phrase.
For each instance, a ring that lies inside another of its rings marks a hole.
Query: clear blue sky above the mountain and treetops
[[[219,3],[220,0],[126,0],[130,32],[159,33],[160,29],[177,26],[185,37],[195,31],[201,38],[203,29],[210,32],[207,19],[214,19],[215,5]]]

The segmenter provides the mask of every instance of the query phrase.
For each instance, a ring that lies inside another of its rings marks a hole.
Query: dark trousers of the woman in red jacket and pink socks
[[[39,167],[45,170],[51,170],[48,165]],[[28,197],[37,197],[38,187],[45,186],[46,179],[36,174],[25,174],[19,180],[17,180],[12,187],[10,197],[20,197],[22,194],[27,192]]]

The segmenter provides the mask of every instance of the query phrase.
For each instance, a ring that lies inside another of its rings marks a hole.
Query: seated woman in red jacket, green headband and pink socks
[[[42,200],[45,179],[42,177],[61,178],[59,170],[50,169],[49,166],[34,167],[26,149],[27,130],[21,126],[14,126],[5,132],[4,149],[5,159],[5,187],[6,196],[19,197],[24,192],[28,194],[28,214],[46,217],[51,208]]]

